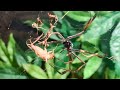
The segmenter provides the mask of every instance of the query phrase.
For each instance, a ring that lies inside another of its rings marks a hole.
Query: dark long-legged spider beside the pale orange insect
[[[75,38],[75,37],[81,36],[81,35],[87,30],[87,28],[91,25],[91,23],[92,23],[93,20],[96,18],[96,16],[97,16],[97,13],[96,13],[92,18],[89,19],[89,21],[86,23],[86,25],[84,26],[83,30],[82,30],[80,33],[77,33],[77,34],[75,34],[75,35],[68,36],[67,38],[64,38],[59,32],[54,32],[53,34],[57,34],[62,40],[60,40],[60,41],[47,42],[48,44],[50,44],[50,43],[62,43],[62,44],[64,45],[64,48],[67,50],[67,53],[68,53],[67,55],[68,55],[68,57],[69,57],[69,61],[68,61],[68,62],[64,62],[64,63],[69,64],[69,69],[68,69],[68,70],[67,70],[67,69],[64,69],[65,71],[59,72],[59,73],[64,74],[64,73],[66,73],[67,71],[76,73],[76,72],[78,72],[82,67],[85,66],[86,63],[85,63],[83,60],[81,60],[74,52],[81,52],[81,53],[91,54],[90,56],[87,56],[88,58],[91,58],[91,57],[93,57],[93,56],[98,56],[98,57],[100,57],[100,58],[103,58],[103,57],[104,57],[104,56],[100,56],[98,53],[94,53],[94,54],[93,54],[93,53],[90,53],[90,52],[85,51],[85,50],[82,50],[82,49],[80,49],[80,50],[75,50],[75,49],[73,49],[73,44],[72,44],[72,42],[70,41],[71,39],[73,39],[73,38]],[[83,64],[82,64],[80,67],[78,67],[76,70],[72,70],[72,69],[71,69],[71,64],[72,64],[72,62],[74,61],[74,59],[72,58],[72,55],[74,55],[75,57],[77,57],[78,60],[79,60],[81,63],[83,63]]]

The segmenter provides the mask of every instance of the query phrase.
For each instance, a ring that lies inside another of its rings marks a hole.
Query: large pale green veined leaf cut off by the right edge
[[[118,22],[120,18],[117,19]],[[111,56],[115,59],[115,72],[116,78],[120,78],[120,23],[117,25],[112,33],[110,40],[110,52]]]

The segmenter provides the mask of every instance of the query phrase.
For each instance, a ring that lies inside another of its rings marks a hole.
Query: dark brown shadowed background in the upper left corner
[[[8,42],[10,33],[13,33],[16,42],[22,48],[26,48],[26,40],[37,37],[36,29],[22,22],[25,20],[36,20],[38,15],[41,19],[48,19],[48,11],[0,11],[0,38]]]

